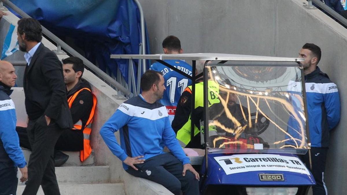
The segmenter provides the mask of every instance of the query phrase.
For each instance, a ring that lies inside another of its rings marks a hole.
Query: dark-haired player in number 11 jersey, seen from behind
[[[165,54],[178,54],[183,53],[181,48],[181,42],[176,36],[168,36],[163,40],[162,43],[163,51]],[[184,73],[192,76],[192,66],[186,63],[184,60],[164,60],[171,66],[183,71]],[[179,97],[185,90],[185,88],[191,85],[192,80],[187,77],[177,73],[176,71],[170,69],[169,67],[156,62],[150,66],[151,70],[161,72],[165,80],[165,87],[168,88],[164,92],[163,99],[160,102],[166,106],[169,113],[169,120],[172,122],[174,120],[175,112]]]

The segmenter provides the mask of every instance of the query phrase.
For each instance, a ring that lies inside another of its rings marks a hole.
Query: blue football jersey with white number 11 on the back
[[[184,73],[192,76],[192,66],[184,60],[164,60],[171,66],[183,71]],[[177,103],[181,94],[187,86],[192,85],[192,80],[177,73],[175,70],[170,69],[167,66],[162,65],[159,62],[155,62],[150,67],[151,70],[161,72],[165,79],[166,91],[164,91],[163,99],[161,103],[166,106],[170,122],[174,120]]]

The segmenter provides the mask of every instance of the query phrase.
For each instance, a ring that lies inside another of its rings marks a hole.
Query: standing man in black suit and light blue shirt
[[[36,194],[40,185],[44,194],[60,194],[54,172],[54,145],[62,129],[73,127],[62,65],[57,55],[41,43],[42,29],[37,20],[18,20],[17,35],[19,49],[25,52],[28,64],[24,72],[24,94],[32,148],[23,194]]]

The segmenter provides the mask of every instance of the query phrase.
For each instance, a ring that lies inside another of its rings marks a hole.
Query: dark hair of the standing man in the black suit
[[[26,41],[41,42],[42,40],[41,24],[33,18],[22,18],[18,20],[17,31],[20,35],[25,33]]]

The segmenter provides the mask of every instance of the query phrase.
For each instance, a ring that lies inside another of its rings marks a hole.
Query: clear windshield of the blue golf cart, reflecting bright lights
[[[209,64],[206,72],[209,152],[306,153],[298,65]]]

